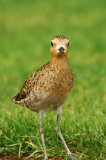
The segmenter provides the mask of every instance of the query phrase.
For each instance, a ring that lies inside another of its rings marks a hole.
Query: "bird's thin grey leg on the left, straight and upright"
[[[44,148],[45,160],[49,160],[47,153],[46,153],[46,146],[45,146],[45,140],[44,140],[44,129],[43,129],[43,124],[42,124],[42,117],[43,117],[44,111],[40,111],[39,113],[40,113],[40,134],[41,134],[43,148]]]

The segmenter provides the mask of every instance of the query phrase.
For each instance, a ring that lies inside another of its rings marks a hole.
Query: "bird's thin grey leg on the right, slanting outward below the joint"
[[[72,153],[70,152],[70,150],[69,150],[69,148],[68,148],[68,146],[67,146],[67,144],[66,144],[66,142],[65,142],[65,140],[64,140],[64,137],[63,137],[63,135],[62,135],[62,133],[61,133],[61,130],[60,130],[61,110],[62,110],[62,107],[59,107],[59,108],[57,109],[57,125],[56,125],[56,131],[57,131],[57,133],[58,133],[58,135],[59,135],[59,137],[60,137],[60,139],[61,139],[61,141],[62,141],[62,143],[63,143],[63,145],[64,145],[64,147],[65,147],[65,149],[66,149],[66,151],[67,151],[67,153],[68,153],[69,158],[71,158],[72,160],[75,160],[75,158],[74,158],[74,156],[72,155]]]

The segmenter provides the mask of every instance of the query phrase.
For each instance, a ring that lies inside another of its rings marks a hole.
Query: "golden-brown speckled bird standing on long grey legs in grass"
[[[48,109],[54,109],[57,112],[56,131],[69,158],[72,160],[75,159],[60,129],[62,107],[74,84],[74,76],[69,67],[67,58],[68,50],[69,39],[63,35],[54,36],[51,39],[50,61],[32,73],[25,81],[20,92],[11,100],[11,102],[25,106],[39,113],[40,134],[45,160],[49,160],[49,158],[45,146],[42,118]]]

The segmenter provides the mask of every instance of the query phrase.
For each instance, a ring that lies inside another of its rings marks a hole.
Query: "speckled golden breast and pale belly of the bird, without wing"
[[[34,86],[27,98],[27,102],[30,102],[28,106],[32,110],[39,111],[42,107],[61,105],[72,87],[73,75],[69,67],[45,67],[36,76]]]

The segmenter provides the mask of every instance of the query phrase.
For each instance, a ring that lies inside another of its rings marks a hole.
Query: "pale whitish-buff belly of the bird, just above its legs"
[[[69,92],[63,94],[57,92],[51,93],[45,91],[36,91],[35,94],[30,94],[30,104],[28,105],[28,108],[35,112],[39,112],[41,109],[55,108],[59,105],[62,105],[68,95]]]

